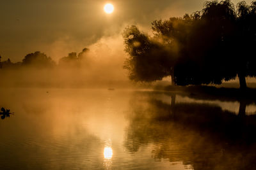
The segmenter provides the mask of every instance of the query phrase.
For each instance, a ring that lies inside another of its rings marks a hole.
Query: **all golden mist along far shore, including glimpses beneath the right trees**
[[[148,32],[147,27],[139,25],[143,32]],[[81,50],[74,51],[79,47]],[[54,67],[20,66],[20,62],[15,66],[4,66],[6,62],[2,59],[2,69],[0,87],[40,87],[40,88],[148,88],[152,85],[170,85],[171,78],[165,77],[163,81],[153,83],[134,83],[129,80],[127,70],[123,68],[124,61],[128,57],[124,52],[124,39],[121,34],[115,36],[104,36],[97,43],[87,46],[89,49],[83,53],[83,59],[78,63],[68,62],[60,64],[61,58],[68,56],[68,53],[76,52],[77,55],[83,50],[82,45],[75,42],[68,43],[65,38],[53,43],[49,48],[49,53],[56,63]],[[44,53],[44,52],[42,52]],[[24,58],[24,57],[23,57]],[[12,61],[11,61],[12,62]],[[249,87],[255,87],[255,78],[246,78]],[[223,81],[217,87],[239,88],[239,81]]]

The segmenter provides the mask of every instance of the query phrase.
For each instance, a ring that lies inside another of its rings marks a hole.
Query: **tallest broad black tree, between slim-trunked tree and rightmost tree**
[[[206,2],[199,16],[192,20],[186,46],[175,67],[177,84],[220,84],[223,79],[236,78],[232,55],[236,13],[232,3]]]

